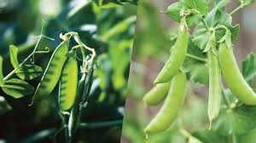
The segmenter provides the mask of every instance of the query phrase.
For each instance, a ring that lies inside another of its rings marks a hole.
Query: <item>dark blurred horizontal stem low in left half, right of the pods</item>
[[[119,126],[119,125],[122,125],[122,123],[123,123],[123,120],[106,121],[106,122],[99,122],[99,123],[80,123],[79,128],[98,129],[98,128],[105,128],[110,126]]]

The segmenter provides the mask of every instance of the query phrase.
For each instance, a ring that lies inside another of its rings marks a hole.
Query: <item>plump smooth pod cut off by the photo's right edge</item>
[[[220,43],[218,49],[219,64],[224,81],[238,100],[246,105],[256,105],[256,94],[242,77],[232,47]]]

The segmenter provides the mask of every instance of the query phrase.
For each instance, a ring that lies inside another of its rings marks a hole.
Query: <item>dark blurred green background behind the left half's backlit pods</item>
[[[90,92],[89,105],[81,121],[99,123],[123,118],[131,47],[136,24],[137,0],[0,0],[0,54],[3,73],[13,70],[9,45],[19,48],[19,61],[32,52],[44,19],[44,35],[35,64],[47,66],[49,57],[61,42],[60,33],[79,32],[81,40],[96,49],[97,67]],[[70,47],[74,45],[71,41]],[[80,55],[78,55],[81,57]],[[56,69],[58,70],[58,69]],[[14,76],[15,77],[15,76]],[[37,87],[40,77],[29,81]],[[32,94],[14,99],[0,91],[0,142],[63,142],[57,89],[41,100],[41,105],[28,106]],[[56,135],[55,135],[56,134]],[[73,142],[119,142],[121,123],[97,129],[79,129]],[[55,135],[55,136],[54,136]]]

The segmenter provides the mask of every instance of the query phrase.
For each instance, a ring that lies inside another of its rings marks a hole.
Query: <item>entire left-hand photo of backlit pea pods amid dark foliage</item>
[[[38,2],[0,12],[0,140],[119,142],[137,1]]]

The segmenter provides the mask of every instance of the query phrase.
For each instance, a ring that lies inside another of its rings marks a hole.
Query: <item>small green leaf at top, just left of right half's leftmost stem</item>
[[[166,14],[172,18],[172,20],[180,21],[180,10],[183,9],[183,3],[172,3],[166,10]]]

